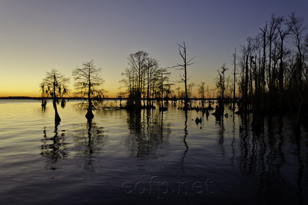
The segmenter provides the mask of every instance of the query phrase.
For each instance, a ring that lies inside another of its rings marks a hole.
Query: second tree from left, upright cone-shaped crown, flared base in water
[[[93,60],[82,65],[82,68],[76,66],[72,71],[72,75],[75,80],[76,93],[88,98],[86,118],[90,120],[94,117],[92,111],[105,97],[106,91],[103,89],[105,80],[101,76],[102,68],[96,68]]]

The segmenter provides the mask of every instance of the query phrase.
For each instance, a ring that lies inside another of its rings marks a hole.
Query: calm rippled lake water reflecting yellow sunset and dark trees
[[[51,103],[0,100],[2,204],[308,202],[307,128],[296,138],[290,116],[257,136],[228,110],[100,111],[89,125],[74,104],[55,127]]]

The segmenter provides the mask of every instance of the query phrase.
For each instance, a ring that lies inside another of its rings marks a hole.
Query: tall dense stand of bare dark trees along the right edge
[[[298,130],[308,91],[308,34],[304,19],[295,12],[272,14],[256,37],[248,37],[238,57],[241,112],[253,112],[253,127],[260,115],[297,112]],[[234,58],[234,61],[236,58]],[[305,110],[304,112],[307,112]]]

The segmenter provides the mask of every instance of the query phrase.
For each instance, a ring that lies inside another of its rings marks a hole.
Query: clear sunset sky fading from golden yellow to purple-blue
[[[72,69],[93,59],[115,97],[129,54],[143,50],[171,67],[182,63],[176,43],[183,41],[187,58],[196,56],[188,83],[214,88],[217,70],[233,67],[235,48],[272,13],[295,11],[308,25],[307,8],[306,0],[0,0],[0,96],[40,96],[38,85],[52,68],[70,77],[73,89]],[[170,72],[179,80],[179,70]]]

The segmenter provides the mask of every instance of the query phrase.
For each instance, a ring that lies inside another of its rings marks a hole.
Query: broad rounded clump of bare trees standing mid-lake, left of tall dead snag
[[[170,90],[166,68],[159,68],[158,60],[145,51],[129,55],[128,68],[122,73],[120,83],[126,87],[128,109],[153,107],[154,98],[163,98]],[[145,103],[146,100],[146,103]],[[143,101],[143,105],[142,105]],[[162,104],[160,104],[161,107]]]

